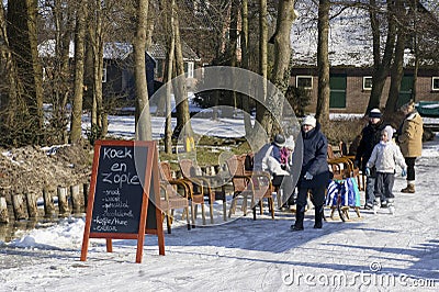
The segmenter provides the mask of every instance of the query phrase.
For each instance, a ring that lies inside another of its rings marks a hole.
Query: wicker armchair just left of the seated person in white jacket
[[[256,220],[256,204],[260,206],[260,214],[263,214],[262,199],[268,199],[269,211],[271,217],[274,218],[274,203],[272,199],[272,184],[270,175],[267,172],[256,172],[246,169],[246,161],[249,162],[252,156],[235,155],[226,160],[229,173],[232,176],[232,183],[234,187],[233,201],[228,216],[235,213],[238,196],[243,198],[243,212],[247,214],[248,196],[251,199],[251,209],[254,220]]]

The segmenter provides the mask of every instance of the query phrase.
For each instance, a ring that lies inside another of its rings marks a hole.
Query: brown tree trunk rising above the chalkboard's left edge
[[[85,38],[87,7],[81,0],[76,13],[76,34],[75,34],[75,86],[70,124],[70,143],[75,144],[81,138],[82,134],[82,97],[83,97],[83,63],[85,63]]]

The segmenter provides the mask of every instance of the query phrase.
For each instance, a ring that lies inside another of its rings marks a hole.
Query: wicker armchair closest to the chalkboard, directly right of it
[[[183,190],[184,194],[178,192],[178,188]],[[191,229],[191,224],[189,222],[189,200],[190,200],[190,189],[189,186],[178,179],[173,179],[171,176],[171,168],[169,162],[160,162],[160,190],[165,194],[160,195],[160,210],[165,213],[166,223],[168,227],[168,234],[171,234],[171,225],[173,221],[173,211],[176,209],[183,209],[183,215],[188,222],[188,231]]]

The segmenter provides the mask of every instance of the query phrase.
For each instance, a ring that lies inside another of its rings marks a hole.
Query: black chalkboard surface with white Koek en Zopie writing
[[[147,147],[101,146],[91,233],[138,232],[146,154]]]

